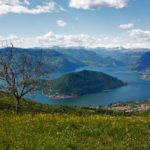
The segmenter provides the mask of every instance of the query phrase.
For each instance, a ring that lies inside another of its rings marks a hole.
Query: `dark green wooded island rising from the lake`
[[[108,74],[83,70],[65,74],[57,79],[46,81],[43,93],[55,99],[73,98],[98,93],[127,85]]]

